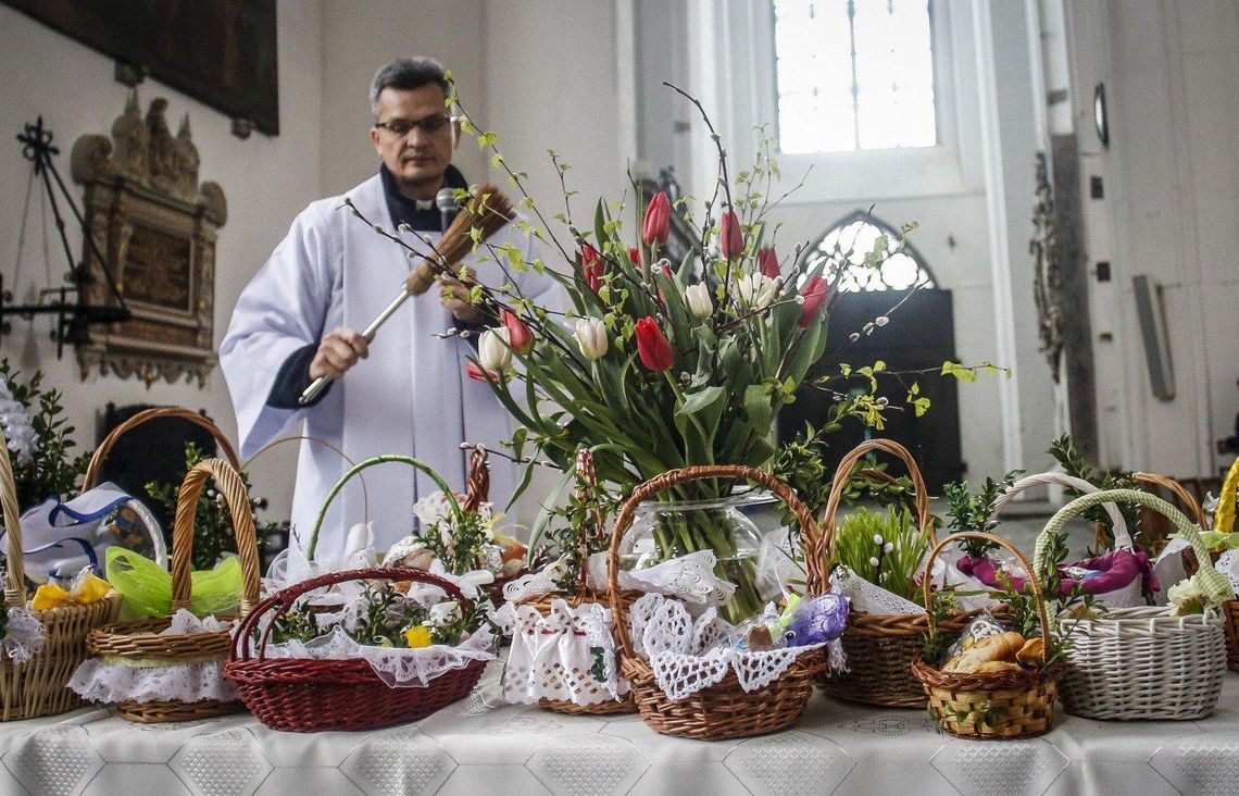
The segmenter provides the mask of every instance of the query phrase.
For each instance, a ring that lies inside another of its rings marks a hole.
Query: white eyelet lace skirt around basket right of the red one
[[[579,608],[554,600],[543,616],[530,605],[504,603],[494,614],[512,651],[503,668],[503,698],[533,704],[556,699],[598,704],[628,693],[618,677],[611,609],[596,603]]]

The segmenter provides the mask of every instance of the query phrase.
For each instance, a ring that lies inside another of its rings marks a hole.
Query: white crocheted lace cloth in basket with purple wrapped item
[[[767,609],[768,611],[772,609]],[[719,619],[715,609],[694,620],[680,603],[660,594],[647,594],[628,609],[631,634],[638,655],[649,658],[658,687],[672,699],[684,699],[736,673],[746,692],[764,688],[779,678],[798,657],[826,643],[782,647],[761,652],[717,648],[731,625]],[[830,666],[843,668],[843,650],[830,642]]]

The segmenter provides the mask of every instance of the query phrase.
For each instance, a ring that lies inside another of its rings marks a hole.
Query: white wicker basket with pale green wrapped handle
[[[1208,593],[1229,591],[1213,569],[1196,526],[1171,503],[1136,490],[1078,497],[1056,513],[1037,538],[1033,567],[1041,572],[1051,534],[1079,513],[1110,501],[1135,502],[1165,515],[1191,542]],[[1219,616],[1175,616],[1171,608],[1111,609],[1097,619],[1058,619],[1070,634],[1063,707],[1095,719],[1197,719],[1218,703],[1227,671]]]

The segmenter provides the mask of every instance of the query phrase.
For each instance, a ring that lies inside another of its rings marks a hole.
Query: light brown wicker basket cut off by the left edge
[[[2,438],[0,438],[2,440]],[[26,605],[26,569],[21,552],[21,522],[17,486],[12,476],[9,446],[0,441],[0,503],[7,542],[4,610]],[[93,629],[116,619],[120,595],[113,591],[89,605],[61,605],[31,611],[43,622],[43,648],[25,663],[0,655],[0,720],[15,722],[56,715],[82,705],[66,688],[73,671],[87,658],[85,637]]]

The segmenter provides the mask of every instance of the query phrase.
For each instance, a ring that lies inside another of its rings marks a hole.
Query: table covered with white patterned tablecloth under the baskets
[[[1104,723],[1059,713],[1018,741],[940,735],[921,710],[814,694],[786,733],[658,735],[636,715],[506,705],[499,667],[415,724],[278,733],[248,714],[140,725],[102,709],[0,724],[0,792],[33,794],[1237,794],[1239,676],[1199,722]]]

